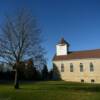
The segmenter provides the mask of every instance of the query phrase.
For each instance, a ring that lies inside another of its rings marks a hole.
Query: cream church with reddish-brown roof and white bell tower
[[[64,81],[100,83],[100,49],[69,51],[69,43],[62,38],[53,65]]]

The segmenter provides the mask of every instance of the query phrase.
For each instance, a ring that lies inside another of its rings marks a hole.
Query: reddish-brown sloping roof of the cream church
[[[53,61],[72,60],[72,59],[84,59],[84,58],[100,58],[100,49],[74,51],[69,52],[67,55],[55,55]]]

